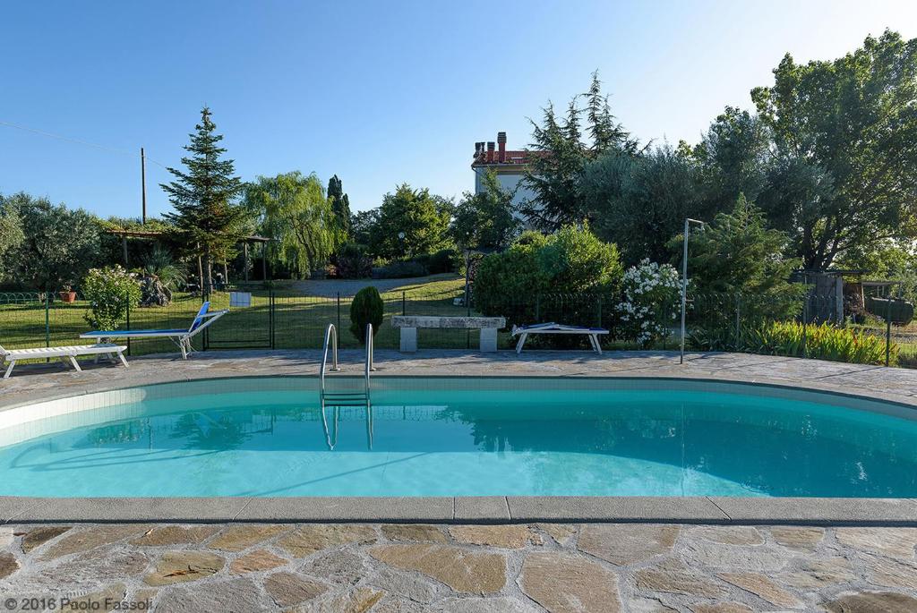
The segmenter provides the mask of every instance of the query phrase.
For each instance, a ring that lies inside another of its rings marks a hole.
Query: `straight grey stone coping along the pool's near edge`
[[[17,523],[693,523],[917,526],[915,498],[0,497]]]

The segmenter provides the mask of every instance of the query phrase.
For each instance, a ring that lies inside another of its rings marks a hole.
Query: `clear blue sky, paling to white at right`
[[[750,107],[784,53],[833,59],[886,27],[917,36],[917,2],[6,2],[0,5],[0,192],[101,215],[149,212],[203,104],[246,180],[337,173],[351,206],[409,182],[473,187],[474,142],[529,142],[527,117],[598,70],[642,141],[695,142]]]

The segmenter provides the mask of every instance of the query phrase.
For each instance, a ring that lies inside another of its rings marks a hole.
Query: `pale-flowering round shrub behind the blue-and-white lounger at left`
[[[92,268],[82,288],[89,301],[83,319],[94,330],[116,330],[127,320],[127,309],[140,301],[137,279],[120,266]]]

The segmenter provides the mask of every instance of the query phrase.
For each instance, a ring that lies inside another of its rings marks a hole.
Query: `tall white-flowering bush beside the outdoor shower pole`
[[[679,315],[681,279],[668,264],[644,259],[624,272],[623,296],[616,310],[621,334],[646,347],[671,334]]]

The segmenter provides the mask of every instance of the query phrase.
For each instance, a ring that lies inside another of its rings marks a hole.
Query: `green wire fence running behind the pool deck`
[[[211,309],[228,313],[204,334],[193,338],[195,351],[236,349],[320,349],[328,323],[335,323],[342,348],[358,348],[350,331],[351,296],[302,296],[260,287],[244,291],[245,306],[231,301],[231,292],[215,291]],[[91,344],[80,334],[91,329],[86,313],[90,304],[83,296],[43,292],[0,293],[0,345],[6,349],[36,346]],[[499,315],[507,319],[498,346],[514,346],[514,324],[567,323],[602,327],[606,349],[678,349],[680,304],[666,301],[643,314],[654,331],[650,340],[644,329],[622,310],[623,297],[602,294],[533,294],[509,297],[499,312],[478,312],[464,304],[461,288],[430,290],[424,286],[386,292],[383,323],[375,337],[379,349],[397,349],[399,330],[393,315]],[[177,292],[166,306],[133,306],[125,313],[123,330],[186,329],[203,299]],[[689,295],[686,309],[686,348],[702,351],[740,351],[772,355],[820,357],[867,364],[917,367],[917,323],[889,312],[849,312],[836,296],[813,293],[797,297],[743,296],[736,294]],[[907,321],[904,321],[907,320]],[[808,324],[808,325],[805,325]],[[480,332],[463,329],[421,329],[417,343],[425,348],[477,348]],[[176,351],[169,340],[131,340],[129,355]],[[526,347],[589,348],[579,336],[530,336]]]

